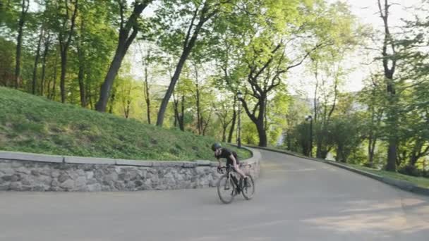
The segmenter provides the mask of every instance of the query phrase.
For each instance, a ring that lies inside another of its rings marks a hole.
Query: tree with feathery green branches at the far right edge
[[[429,104],[428,104],[428,56],[425,49],[429,41],[429,17],[421,18],[419,13],[428,11],[429,2],[413,9],[416,16],[407,20],[401,39],[394,39],[395,58],[401,61],[397,75],[397,95],[399,104],[399,133],[397,146],[397,165],[399,170],[409,175],[418,174],[418,161],[429,154]],[[399,76],[399,77],[398,77]],[[404,83],[405,82],[405,83]]]

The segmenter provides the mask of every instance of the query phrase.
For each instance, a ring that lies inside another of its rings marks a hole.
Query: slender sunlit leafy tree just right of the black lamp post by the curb
[[[329,139],[328,127],[337,109],[339,88],[350,71],[344,68],[344,62],[350,57],[349,53],[354,51],[362,30],[346,4],[336,3],[322,9],[327,11],[327,16],[316,20],[317,25],[320,25],[317,31],[320,39],[329,44],[310,54],[309,67],[315,80],[313,123],[316,156],[325,159],[334,148]]]

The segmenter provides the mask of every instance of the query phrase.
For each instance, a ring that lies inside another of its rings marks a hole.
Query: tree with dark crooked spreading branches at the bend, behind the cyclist
[[[243,61],[238,61],[242,64],[237,66],[241,68],[237,72],[241,72],[241,78],[246,80],[246,85],[243,85],[245,98],[240,101],[247,116],[258,130],[259,145],[265,147],[267,145],[265,129],[267,98],[272,90],[282,83],[284,74],[303,63],[303,59],[309,53],[298,57],[295,63],[286,56],[288,42],[286,38],[291,37],[286,35],[286,32],[294,32],[299,28],[294,24],[291,24],[294,25],[293,27],[289,25],[293,22],[292,18],[296,20],[298,17],[298,5],[291,7],[296,2],[272,1],[263,4],[250,2],[246,4],[246,11],[237,14],[238,17],[229,20],[229,23],[233,25],[230,29],[239,31],[238,36],[242,39],[236,40],[234,47],[237,49],[244,47],[244,51],[238,50],[238,53],[242,54]],[[269,16],[272,24],[263,16]],[[243,23],[248,25],[243,26]]]

